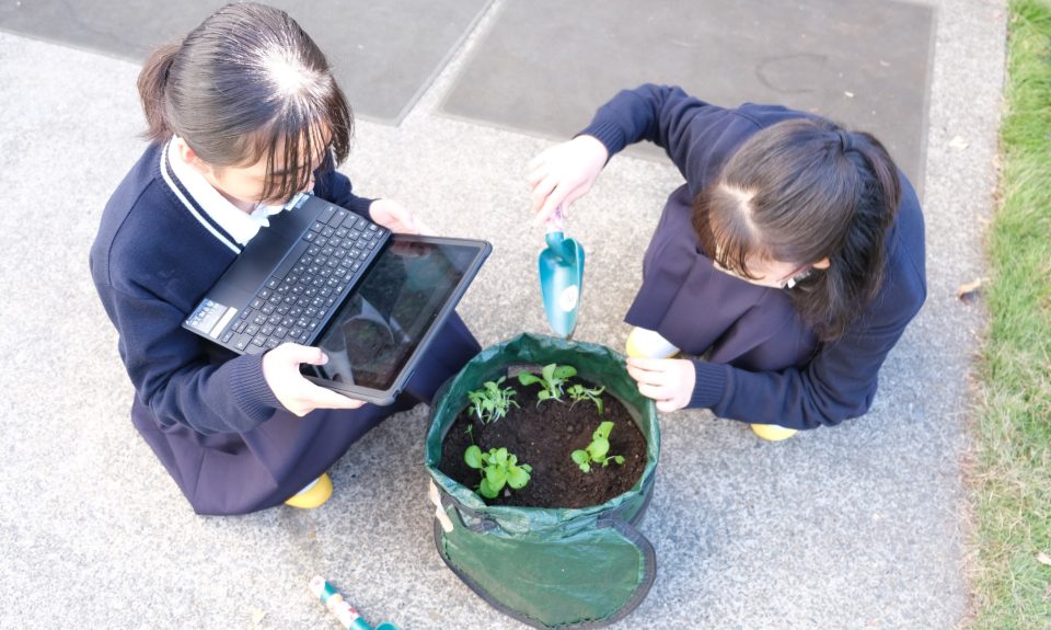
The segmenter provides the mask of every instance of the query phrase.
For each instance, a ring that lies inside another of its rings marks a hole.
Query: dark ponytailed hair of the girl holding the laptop
[[[219,9],[181,43],[158,48],[138,88],[151,141],[178,135],[218,168],[267,156],[266,199],[290,197],[322,160],[339,163],[350,150],[354,117],[328,61],[272,7]]]

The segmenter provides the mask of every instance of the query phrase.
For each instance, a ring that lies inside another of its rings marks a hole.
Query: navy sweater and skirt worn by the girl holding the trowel
[[[753,134],[805,116],[751,103],[718,107],[679,88],[647,84],[620,92],[581,131],[598,138],[611,157],[633,142],[655,142],[685,179],[665,206],[625,321],[706,356],[694,364],[690,406],[711,408],[720,417],[812,428],[864,414],[887,354],[926,298],[923,215],[901,172],[882,287],[834,342],[818,344],[782,289],[718,272],[701,251],[690,221],[697,193]]]

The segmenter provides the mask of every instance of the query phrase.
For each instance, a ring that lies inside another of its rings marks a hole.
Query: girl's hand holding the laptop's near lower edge
[[[263,355],[263,378],[285,409],[302,417],[315,409],[358,409],[365,404],[316,386],[299,371],[300,364],[325,365],[320,347],[282,343]]]

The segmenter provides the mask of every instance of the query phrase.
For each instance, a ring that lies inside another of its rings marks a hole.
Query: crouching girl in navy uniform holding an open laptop
[[[351,191],[335,170],[354,118],[316,44],[282,11],[219,9],[157,49],[138,81],[149,147],[114,192],[91,273],[119,335],[131,421],[200,514],[327,500],[325,473],[369,428],[429,402],[480,350],[453,316],[391,406],[315,386],[316,347],[233,355],[182,322],[268,218],[311,192],[395,232],[408,210]],[[269,333],[267,333],[269,334]]]

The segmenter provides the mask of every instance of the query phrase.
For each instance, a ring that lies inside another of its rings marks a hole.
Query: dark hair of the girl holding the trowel
[[[883,241],[900,199],[898,169],[879,140],[799,118],[749,138],[697,196],[693,225],[705,253],[746,277],[754,277],[749,257],[799,266],[829,259],[789,290],[829,342],[882,286]]]

